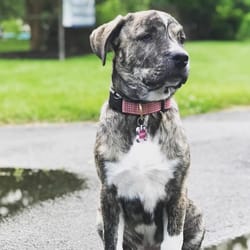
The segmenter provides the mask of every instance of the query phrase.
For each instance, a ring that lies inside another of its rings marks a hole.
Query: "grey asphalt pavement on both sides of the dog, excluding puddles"
[[[204,246],[250,232],[250,108],[183,120],[191,145],[189,196],[202,207]],[[36,204],[0,223],[1,250],[99,250],[93,161],[96,124],[0,127],[0,167],[64,168],[88,189]]]

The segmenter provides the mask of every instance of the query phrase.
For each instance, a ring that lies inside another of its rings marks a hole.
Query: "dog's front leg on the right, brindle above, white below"
[[[186,214],[185,199],[170,201],[163,212],[163,242],[161,250],[181,250]]]

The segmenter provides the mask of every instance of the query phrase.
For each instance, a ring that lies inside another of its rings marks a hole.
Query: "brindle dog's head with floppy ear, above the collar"
[[[106,61],[113,50],[113,88],[133,100],[166,99],[186,82],[189,58],[182,26],[169,14],[142,11],[118,16],[90,36],[94,53]]]

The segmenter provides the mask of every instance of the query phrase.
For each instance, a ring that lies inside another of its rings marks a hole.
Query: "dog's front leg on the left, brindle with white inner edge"
[[[102,188],[101,208],[104,226],[104,249],[122,250],[124,219],[115,187]]]

